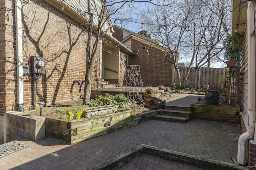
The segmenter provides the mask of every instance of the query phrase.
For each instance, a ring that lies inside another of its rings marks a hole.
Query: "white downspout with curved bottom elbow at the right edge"
[[[248,128],[238,139],[237,162],[244,165],[245,162],[245,143],[252,139],[255,129],[256,115],[256,77],[255,77],[255,37],[251,35],[254,31],[254,4],[248,2],[247,8],[247,39],[248,39]]]

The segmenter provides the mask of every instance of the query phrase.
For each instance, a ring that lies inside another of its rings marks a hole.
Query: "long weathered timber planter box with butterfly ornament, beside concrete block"
[[[72,121],[46,117],[46,136],[74,144],[150,120],[158,111],[137,115],[132,113],[133,111],[122,111]]]

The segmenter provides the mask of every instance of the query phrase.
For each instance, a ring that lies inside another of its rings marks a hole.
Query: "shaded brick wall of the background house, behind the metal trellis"
[[[142,47],[146,47],[146,49],[142,49]],[[171,68],[173,64],[165,59],[162,50],[150,47],[150,45],[135,39],[131,40],[131,50],[136,55],[129,57],[128,63],[140,65],[143,86],[151,85],[157,87],[163,85],[170,87],[172,84]]]

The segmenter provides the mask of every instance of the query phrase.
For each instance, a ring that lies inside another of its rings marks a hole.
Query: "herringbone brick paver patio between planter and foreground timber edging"
[[[48,138],[21,139],[29,147],[0,158],[0,169],[90,169],[141,144],[233,163],[231,157],[236,157],[240,136],[238,126],[198,119],[188,123],[150,120],[75,145]]]

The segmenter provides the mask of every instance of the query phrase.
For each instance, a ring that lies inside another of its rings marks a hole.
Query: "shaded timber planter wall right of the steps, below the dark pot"
[[[191,109],[194,119],[239,123],[240,107],[192,104]]]

